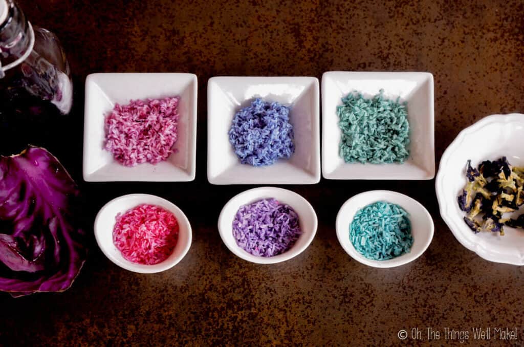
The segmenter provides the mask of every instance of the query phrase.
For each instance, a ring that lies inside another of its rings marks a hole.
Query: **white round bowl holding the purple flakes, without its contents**
[[[302,234],[288,251],[272,257],[261,257],[249,254],[237,245],[233,237],[233,219],[242,205],[269,198],[275,198],[281,203],[288,204],[297,212]],[[227,248],[238,257],[257,264],[280,263],[299,255],[313,241],[317,226],[315,210],[307,200],[291,190],[275,187],[254,188],[237,194],[224,205],[219,216],[220,237]]]

